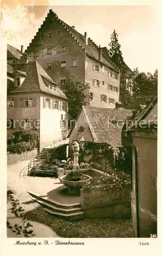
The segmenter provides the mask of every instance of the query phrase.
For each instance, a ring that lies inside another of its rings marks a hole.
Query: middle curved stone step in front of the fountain
[[[54,212],[58,212],[60,214],[65,214],[65,215],[71,215],[71,214],[75,214],[76,212],[81,212],[82,208],[81,207],[74,207],[74,208],[61,208],[61,207],[56,207],[54,205],[52,205],[51,203],[47,203],[47,202],[43,202],[42,200],[39,200],[37,198],[32,198],[32,200],[36,201],[37,203],[43,205],[45,208],[49,208]]]

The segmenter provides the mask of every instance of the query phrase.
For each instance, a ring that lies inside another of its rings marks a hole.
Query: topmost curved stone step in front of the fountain
[[[60,202],[57,202],[57,201],[54,201],[52,199],[46,199],[46,198],[42,198],[40,197],[40,195],[36,194],[36,193],[33,193],[32,191],[29,191],[28,192],[29,195],[32,196],[32,198],[37,198],[43,202],[47,202],[47,203],[50,203],[58,208],[65,208],[65,209],[71,209],[71,208],[78,208],[78,207],[81,207],[81,204],[80,203],[74,203],[74,204],[63,204],[63,203],[60,203]]]

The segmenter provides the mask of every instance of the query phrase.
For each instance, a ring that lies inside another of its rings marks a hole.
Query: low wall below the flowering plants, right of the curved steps
[[[86,191],[83,189],[80,191],[81,206],[84,210],[85,218],[131,218],[130,186],[119,191],[101,187],[96,187],[94,191]]]

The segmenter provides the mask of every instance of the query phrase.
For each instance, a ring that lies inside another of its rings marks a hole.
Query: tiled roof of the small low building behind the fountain
[[[95,142],[122,145],[122,128],[132,110],[83,106],[83,111]]]

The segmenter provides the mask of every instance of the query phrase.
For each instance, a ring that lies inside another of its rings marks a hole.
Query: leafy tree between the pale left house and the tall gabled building
[[[89,84],[72,75],[62,86],[68,101],[68,116],[71,120],[76,119],[83,105],[90,104]]]

